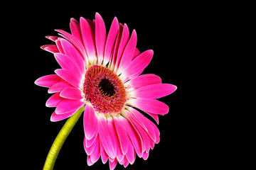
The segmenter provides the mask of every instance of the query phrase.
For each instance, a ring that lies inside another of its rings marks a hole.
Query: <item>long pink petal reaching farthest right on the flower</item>
[[[132,96],[136,98],[161,98],[172,94],[177,89],[172,84],[151,84],[142,86],[139,89],[132,91]]]

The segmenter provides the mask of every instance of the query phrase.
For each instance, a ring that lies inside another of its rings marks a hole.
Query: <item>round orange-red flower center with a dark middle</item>
[[[106,67],[94,65],[85,74],[85,100],[98,113],[116,114],[124,108],[126,91],[117,74]]]

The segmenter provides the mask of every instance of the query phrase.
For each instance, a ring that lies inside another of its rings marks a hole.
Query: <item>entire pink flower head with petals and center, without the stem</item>
[[[158,101],[173,93],[176,86],[162,84],[155,74],[142,74],[153,57],[153,50],[140,53],[137,33],[114,18],[106,33],[99,13],[95,20],[71,18],[71,34],[47,36],[55,45],[41,48],[52,52],[62,69],[35,81],[53,94],[46,106],[56,107],[51,121],[63,120],[85,106],[83,115],[87,164],[98,159],[110,169],[134,164],[136,154],[147,159],[159,143],[159,130],[138,110],[159,123],[158,115],[169,113],[169,106]],[[54,94],[55,93],[55,94]]]

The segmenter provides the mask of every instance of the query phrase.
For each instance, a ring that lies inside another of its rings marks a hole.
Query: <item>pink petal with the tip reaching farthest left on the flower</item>
[[[50,74],[36,79],[35,84],[38,86],[50,87],[60,81],[63,81],[63,79],[61,79],[58,75]]]

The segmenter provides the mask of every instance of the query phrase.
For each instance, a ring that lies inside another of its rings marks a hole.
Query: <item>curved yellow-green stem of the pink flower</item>
[[[78,122],[78,118],[80,118],[80,115],[82,114],[82,111],[84,111],[84,109],[85,106],[82,106],[82,108],[78,109],[78,111],[66,121],[65,125],[63,125],[63,128],[60,130],[58,136],[55,138],[53,145],[50,147],[50,151],[46,158],[46,163],[43,166],[43,170],[53,169],[55,160],[58,156],[58,153],[60,152],[61,147],[63,146],[63,143],[70,134],[70,131],[73,129],[75,123]]]

